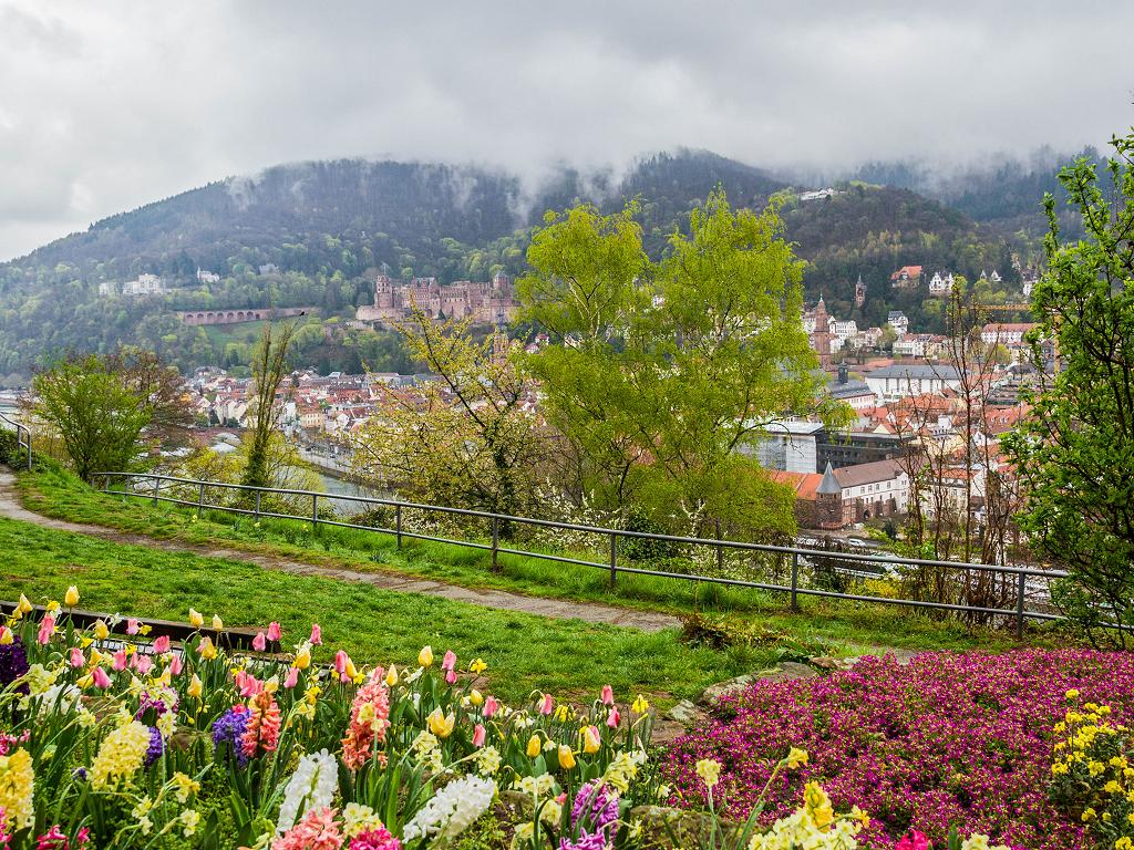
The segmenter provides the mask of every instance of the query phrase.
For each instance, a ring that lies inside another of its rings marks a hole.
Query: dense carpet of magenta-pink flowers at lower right
[[[1080,700],[1106,706],[1112,731],[1125,732],[1134,715],[1134,655],[925,653],[908,666],[866,658],[847,672],[756,682],[721,699],[711,722],[678,739],[662,773],[678,805],[701,806],[695,765],[719,760],[727,811],[743,817],[771,765],[795,746],[809,763],[772,781],[764,823],[786,816],[803,784],[818,781],[836,808],[870,813],[858,836],[865,847],[923,847],[914,830],[940,848],[955,825],[1025,850],[1092,848],[1084,817],[1050,801],[1052,751],[1063,746],[1056,739]],[[1131,774],[1124,781],[1118,771],[1111,797],[1134,798]]]

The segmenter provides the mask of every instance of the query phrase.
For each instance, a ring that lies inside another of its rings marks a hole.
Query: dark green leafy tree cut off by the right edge
[[[1048,272],[1036,283],[1036,366],[1053,343],[1057,369],[1030,397],[1032,415],[1005,440],[1021,477],[1021,525],[1070,579],[1053,598],[1092,636],[1128,646],[1134,629],[1134,134],[1115,156],[1080,159],[1059,181],[1086,238],[1060,239],[1044,198]],[[1108,194],[1110,197],[1108,197]],[[1042,372],[1041,372],[1042,374]],[[1118,626],[1102,629],[1105,621]]]

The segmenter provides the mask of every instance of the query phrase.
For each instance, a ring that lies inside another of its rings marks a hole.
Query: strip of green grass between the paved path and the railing
[[[24,503],[41,513],[77,522],[118,528],[194,545],[223,545],[276,554],[325,567],[396,572],[475,588],[532,596],[601,602],[683,615],[701,611],[734,624],[758,624],[789,640],[830,643],[831,654],[855,655],[877,647],[909,649],[1002,649],[1013,644],[1004,631],[973,630],[953,619],[932,619],[900,606],[801,597],[801,613],[787,609],[782,594],[697,585],[691,581],[620,575],[615,588],[608,575],[587,567],[556,564],[503,555],[492,572],[483,551],[429,542],[397,549],[391,535],[320,527],[290,520],[261,520],[213,511],[195,521],[195,511],[93,491],[75,476],[52,468],[20,478]],[[1049,643],[1050,630],[1031,639]]]

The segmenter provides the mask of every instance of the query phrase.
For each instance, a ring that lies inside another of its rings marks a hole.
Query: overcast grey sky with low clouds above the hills
[[[1134,3],[0,0],[0,260],[307,159],[758,165],[1074,150]]]

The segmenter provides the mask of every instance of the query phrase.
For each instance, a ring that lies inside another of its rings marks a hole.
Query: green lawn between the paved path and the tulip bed
[[[491,690],[510,700],[533,689],[583,697],[609,682],[623,697],[644,692],[665,704],[775,660],[770,651],[691,648],[677,630],[645,634],[493,611],[10,519],[0,519],[0,547],[5,597],[61,600],[68,585],[77,585],[90,610],[184,621],[193,606],[206,618],[219,613],[229,627],[278,620],[285,643],[306,637],[316,620],[327,640],[322,661],[345,648],[363,663],[409,664],[431,644],[439,655],[454,649],[463,663],[483,657]]]

